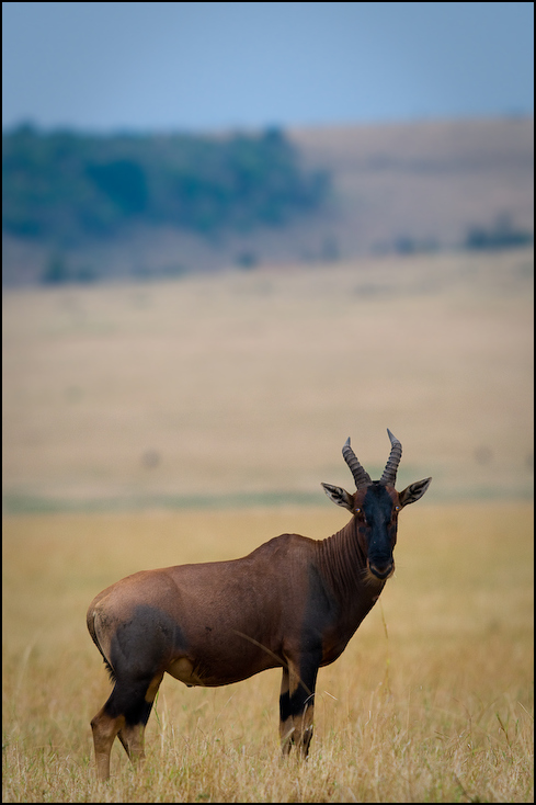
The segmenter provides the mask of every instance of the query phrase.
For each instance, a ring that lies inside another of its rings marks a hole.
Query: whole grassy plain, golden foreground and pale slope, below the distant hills
[[[421,256],[4,294],[4,802],[532,802],[532,262]],[[166,678],[133,770],[94,775],[93,596],[349,514],[389,427],[396,575],[320,670],[307,762],[281,671]]]

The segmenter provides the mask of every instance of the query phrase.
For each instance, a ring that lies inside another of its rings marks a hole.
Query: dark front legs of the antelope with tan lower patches
[[[293,745],[304,758],[309,752],[312,738],[315,712],[315,685],[318,666],[301,662],[301,676],[294,664],[283,669],[280,695],[280,736],[283,755],[288,755]]]

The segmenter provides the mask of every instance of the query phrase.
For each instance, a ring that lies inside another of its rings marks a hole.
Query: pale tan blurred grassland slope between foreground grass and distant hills
[[[387,427],[400,485],[526,497],[532,282],[520,250],[9,291],[8,511],[310,502],[349,435],[380,473]]]

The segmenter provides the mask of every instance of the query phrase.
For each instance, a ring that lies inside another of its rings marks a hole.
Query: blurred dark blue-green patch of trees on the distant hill
[[[26,125],[3,135],[2,173],[3,231],[56,247],[133,224],[202,236],[281,226],[318,208],[329,185],[278,129],[99,137]]]

